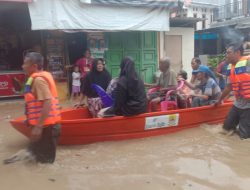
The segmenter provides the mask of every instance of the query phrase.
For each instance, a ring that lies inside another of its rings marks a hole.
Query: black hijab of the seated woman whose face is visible
[[[84,79],[83,93],[91,98],[98,97],[97,93],[92,89],[91,84],[97,84],[104,90],[106,90],[111,80],[111,76],[105,69],[105,67],[101,72],[97,70],[99,61],[101,61],[102,63],[104,62],[101,58],[95,59],[91,71],[86,75],[86,78]]]

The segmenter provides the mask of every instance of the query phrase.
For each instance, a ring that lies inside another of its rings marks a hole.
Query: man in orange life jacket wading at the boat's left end
[[[25,113],[31,127],[31,143],[25,156],[15,154],[4,160],[5,164],[27,159],[32,155],[37,162],[53,163],[56,141],[60,134],[61,111],[55,82],[50,73],[43,71],[44,58],[40,53],[28,53],[23,70],[29,77],[25,85]]]

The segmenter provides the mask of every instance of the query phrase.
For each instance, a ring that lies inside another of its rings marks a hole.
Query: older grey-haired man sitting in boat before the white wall
[[[168,57],[160,60],[159,69],[161,71],[161,75],[157,83],[144,83],[146,87],[159,87],[159,90],[156,92],[147,94],[148,101],[151,101],[152,111],[155,111],[157,104],[165,99],[165,95],[168,90],[172,90],[177,87],[177,76],[176,73],[170,68],[170,59]]]

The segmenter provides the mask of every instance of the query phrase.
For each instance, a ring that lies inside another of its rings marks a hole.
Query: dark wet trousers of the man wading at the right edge
[[[241,138],[250,138],[250,108],[239,109],[233,106],[229,111],[223,128],[226,130],[235,130],[239,124],[239,135]]]

